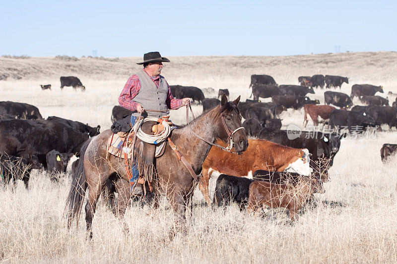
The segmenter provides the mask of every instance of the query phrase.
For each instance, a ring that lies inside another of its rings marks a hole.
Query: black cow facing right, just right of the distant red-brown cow
[[[367,111],[347,111],[335,109],[330,113],[330,128],[335,128],[340,131],[342,128],[347,128],[350,133],[361,133],[367,126],[375,126],[374,117]]]

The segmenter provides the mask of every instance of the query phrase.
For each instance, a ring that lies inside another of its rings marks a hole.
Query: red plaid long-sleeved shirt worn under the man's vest
[[[156,76],[156,77],[149,76],[149,77],[154,82],[154,84],[158,89],[160,85],[160,76]],[[168,87],[168,95],[165,103],[167,104],[168,109],[174,109],[177,108],[178,106],[181,106],[182,99],[175,99],[171,94],[171,89],[168,83],[167,83],[167,87]],[[123,91],[121,91],[121,94],[119,96],[120,106],[123,106],[124,108],[127,108],[132,111],[136,111],[136,106],[138,105],[138,103],[136,103],[132,99],[139,93],[139,89],[140,89],[139,77],[134,74],[127,80],[127,83],[123,88]]]

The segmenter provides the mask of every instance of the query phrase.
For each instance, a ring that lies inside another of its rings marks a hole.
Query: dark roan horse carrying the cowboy
[[[229,131],[235,131],[242,126],[240,111],[237,107],[239,101],[240,97],[233,102],[227,102],[226,96],[223,95],[219,106],[202,113],[190,122],[190,125],[172,131],[171,140],[191,164],[196,174],[200,173],[201,165],[208,155],[211,145],[199,139],[195,134],[211,143],[214,143],[217,139],[226,141],[229,137]],[[148,133],[148,131],[151,131],[153,124],[154,122],[145,122],[141,128],[145,133]],[[66,217],[68,227],[70,227],[76,215],[78,221],[85,190],[88,187],[85,220],[90,238],[92,238],[92,218],[106,180],[109,178],[124,179],[118,180],[116,183],[119,198],[114,213],[120,219],[123,218],[128,202],[131,199],[129,177],[127,176],[124,162],[112,155],[108,159],[106,158],[106,145],[111,135],[112,131],[108,129],[91,138],[82,147],[81,158],[73,174],[71,188],[66,201]],[[241,153],[247,150],[248,140],[243,129],[236,131],[232,140],[236,152]],[[149,148],[154,148],[155,145],[146,144],[144,149],[142,145],[142,142],[137,139],[135,152],[142,157],[143,161],[150,164],[150,160],[148,162],[144,154]],[[163,156],[154,160],[154,165],[156,172],[153,177],[154,190],[157,194],[167,197],[176,216],[174,228],[170,232],[170,239],[172,239],[177,232],[186,226],[186,208],[191,202],[194,188],[198,182],[194,180],[189,170],[169,146],[166,147]],[[140,169],[139,166],[138,169]],[[155,206],[158,206],[158,203],[155,203]]]

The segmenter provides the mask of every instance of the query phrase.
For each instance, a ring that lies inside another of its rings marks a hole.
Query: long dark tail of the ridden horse
[[[72,174],[70,191],[66,199],[65,208],[68,227],[71,226],[71,223],[76,215],[78,224],[78,218],[83,205],[85,190],[87,189],[87,182],[85,180],[84,155],[88,144],[91,142],[91,139],[87,140],[81,147],[80,159],[78,160],[77,167]]]

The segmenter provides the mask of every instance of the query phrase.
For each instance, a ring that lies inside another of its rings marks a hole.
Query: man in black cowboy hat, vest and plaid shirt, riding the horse
[[[162,62],[170,62],[170,60],[162,57],[159,52],[145,53],[143,61],[136,63],[143,64],[143,69],[127,80],[119,96],[120,106],[132,110],[131,125],[135,123],[139,115],[143,117],[161,117],[167,115],[169,109],[175,109],[192,102],[190,98],[175,99],[173,97],[170,86],[165,78],[160,75],[163,69]],[[146,112],[145,109],[164,111]],[[139,176],[138,169],[135,166],[132,167],[131,172],[130,184],[135,182]]]

